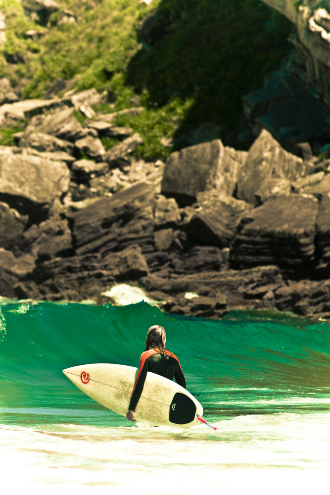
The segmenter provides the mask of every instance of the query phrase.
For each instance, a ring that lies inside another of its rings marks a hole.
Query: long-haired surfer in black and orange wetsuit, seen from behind
[[[145,351],[140,358],[140,367],[132,392],[131,402],[126,417],[129,421],[136,421],[135,408],[141,396],[144,381],[148,371],[173,380],[186,388],[186,380],[182,372],[181,364],[177,356],[166,347],[166,332],[159,325],[149,328],[145,339]]]

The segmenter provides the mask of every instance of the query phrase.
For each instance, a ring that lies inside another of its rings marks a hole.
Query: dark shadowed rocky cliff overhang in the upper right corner
[[[330,142],[330,3],[321,0],[262,0],[290,22],[292,52],[264,87],[244,98],[255,135],[262,128],[286,148],[308,141],[315,153]]]

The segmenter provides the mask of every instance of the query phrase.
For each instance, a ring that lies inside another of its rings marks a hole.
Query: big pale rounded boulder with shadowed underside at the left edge
[[[27,153],[0,154],[0,198],[18,209],[38,215],[66,193],[70,172],[65,163]]]

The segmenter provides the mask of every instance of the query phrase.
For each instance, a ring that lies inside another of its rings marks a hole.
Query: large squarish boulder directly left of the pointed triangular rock
[[[233,196],[245,158],[246,152],[224,147],[220,140],[175,151],[166,161],[161,192],[180,205],[193,203],[208,189]]]

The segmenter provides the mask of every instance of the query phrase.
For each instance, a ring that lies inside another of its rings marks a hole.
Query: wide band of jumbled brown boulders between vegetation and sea
[[[266,130],[248,151],[212,140],[144,161],[118,112],[94,112],[104,98],[0,107],[2,125],[26,122],[0,147],[1,296],[104,303],[125,282],[178,314],[330,317],[330,161]]]

